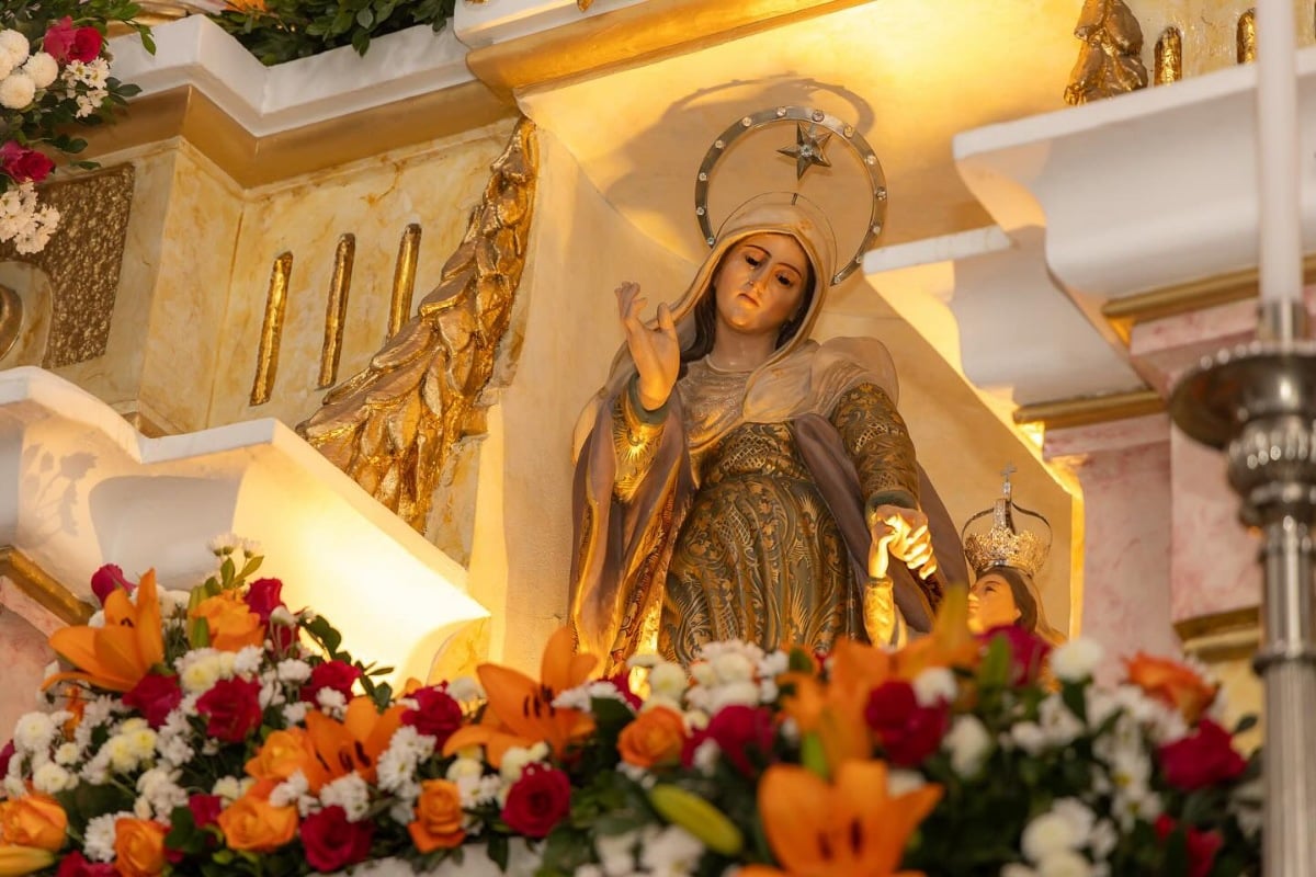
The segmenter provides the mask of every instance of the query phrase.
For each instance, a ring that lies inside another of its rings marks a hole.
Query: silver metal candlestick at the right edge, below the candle
[[[1266,784],[1262,863],[1267,877],[1316,877],[1316,342],[1300,302],[1266,302],[1257,341],[1221,351],[1174,388],[1170,415],[1191,438],[1224,448],[1240,517],[1265,543]]]

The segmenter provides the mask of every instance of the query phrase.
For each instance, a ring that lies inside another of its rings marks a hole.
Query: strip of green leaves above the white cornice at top
[[[280,64],[340,46],[366,54],[375,37],[415,25],[442,30],[455,0],[265,0],[232,3],[211,16],[263,64]]]

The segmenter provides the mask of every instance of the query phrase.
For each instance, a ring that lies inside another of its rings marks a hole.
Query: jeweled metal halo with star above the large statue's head
[[[833,135],[849,146],[859,158],[859,164],[869,175],[869,191],[873,192],[873,212],[869,217],[869,227],[859,242],[859,249],[841,268],[832,275],[832,284],[838,284],[863,263],[863,254],[873,249],[887,216],[887,184],[882,174],[882,163],[878,154],[873,151],[863,135],[855,130],[854,125],[842,122],[836,116],[824,113],[812,107],[776,107],[775,109],[762,109],[750,116],[745,116],[734,125],[722,131],[713,145],[704,154],[704,160],[699,164],[699,175],[695,179],[695,216],[699,218],[699,230],[704,235],[704,242],[713,246],[717,241],[713,234],[713,225],[708,216],[708,180],[717,167],[717,162],[730,150],[741,137],[769,125],[783,122],[795,124],[795,145],[776,150],[778,153],[795,159],[795,179],[800,180],[813,166],[830,167],[826,158],[826,146]]]

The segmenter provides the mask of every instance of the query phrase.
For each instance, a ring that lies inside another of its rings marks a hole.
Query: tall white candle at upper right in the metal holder
[[[1300,301],[1303,229],[1292,0],[1257,0],[1261,301]]]

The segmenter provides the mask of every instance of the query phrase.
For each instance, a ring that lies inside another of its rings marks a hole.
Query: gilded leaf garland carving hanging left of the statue
[[[297,426],[420,533],[453,447],[483,431],[479,398],[525,268],[538,174],[533,122],[517,124],[491,171],[466,235],[416,317]]]

